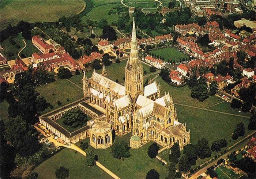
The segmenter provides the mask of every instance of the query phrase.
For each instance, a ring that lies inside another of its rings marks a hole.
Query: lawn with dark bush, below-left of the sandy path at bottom
[[[86,157],[72,149],[65,148],[56,155],[45,160],[37,168],[38,178],[56,178],[55,171],[61,166],[69,169],[68,178],[110,179],[111,177],[97,166],[88,167]]]

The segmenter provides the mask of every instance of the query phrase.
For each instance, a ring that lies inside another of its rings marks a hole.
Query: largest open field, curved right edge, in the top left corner
[[[1,0],[0,29],[21,20],[30,23],[57,21],[62,16],[82,11],[85,5],[83,0]]]

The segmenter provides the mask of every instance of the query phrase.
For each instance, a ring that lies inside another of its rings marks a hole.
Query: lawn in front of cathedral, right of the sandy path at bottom
[[[122,138],[116,136],[114,142],[118,142],[124,140],[129,143],[130,134],[123,136]],[[89,142],[89,139],[85,139],[82,142]],[[89,146],[89,150],[94,150],[95,154],[98,155],[98,161],[116,174],[118,177],[122,179],[127,178],[145,178],[147,172],[151,169],[155,169],[158,171],[160,178],[166,178],[168,171],[162,163],[159,162],[158,159],[151,159],[148,154],[148,146],[150,146],[153,142],[150,142],[139,149],[130,149],[129,152],[131,156],[129,158],[125,158],[124,160],[114,159],[111,154],[111,147],[108,149],[94,149]],[[80,142],[77,143],[80,146]]]

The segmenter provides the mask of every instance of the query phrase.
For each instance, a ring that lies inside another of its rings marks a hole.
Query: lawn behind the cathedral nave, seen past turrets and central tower
[[[113,81],[118,80],[118,83],[124,83],[124,77],[125,77],[125,65],[126,65],[127,60],[121,61],[121,63],[114,63],[110,66],[106,67],[107,71],[107,77]],[[147,74],[150,73],[149,71],[149,66],[143,64],[143,69],[144,71],[147,71]],[[97,73],[101,74],[102,69],[96,70]],[[93,70],[86,72],[87,78],[90,78],[91,75],[93,74]],[[145,74],[144,74],[145,75]],[[80,87],[83,87],[82,84],[82,79],[83,79],[83,74],[81,73],[80,75],[74,75],[72,76],[69,80],[74,82],[75,84],[79,85]]]

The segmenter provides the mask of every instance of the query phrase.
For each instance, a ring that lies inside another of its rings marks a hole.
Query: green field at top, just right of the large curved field
[[[94,7],[86,16],[82,17],[82,24],[86,24],[86,20],[89,18],[90,20],[97,22],[99,22],[101,19],[106,19],[108,21],[108,25],[111,25],[112,22],[116,22],[118,20],[118,15],[108,15],[108,12],[110,9],[116,7],[116,5],[117,4],[108,4]]]

